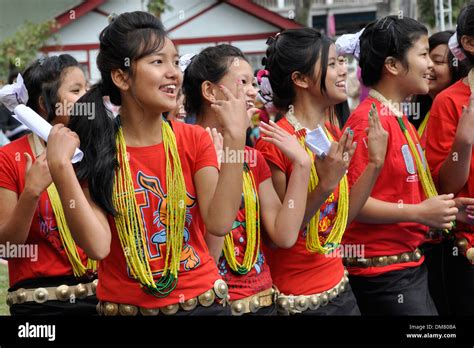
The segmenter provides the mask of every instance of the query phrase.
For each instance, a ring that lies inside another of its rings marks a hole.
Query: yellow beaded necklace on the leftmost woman
[[[35,148],[35,156],[39,156],[43,152],[43,146],[36,134],[33,133],[33,144]],[[58,226],[59,237],[61,243],[64,246],[64,251],[66,252],[69,263],[72,266],[74,276],[80,278],[83,276],[92,276],[92,274],[97,270],[97,261],[92,259],[87,259],[87,266],[85,267],[82,263],[79,252],[77,251],[76,243],[71,236],[71,231],[66,222],[66,216],[64,215],[64,209],[61,204],[61,198],[59,197],[58,190],[54,183],[49,185],[48,189],[48,198],[51,202],[51,207],[53,208],[54,217],[56,219],[56,224]]]

